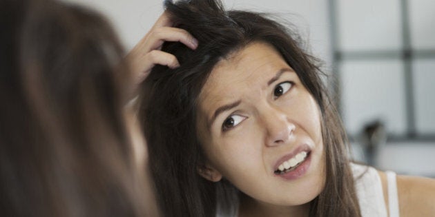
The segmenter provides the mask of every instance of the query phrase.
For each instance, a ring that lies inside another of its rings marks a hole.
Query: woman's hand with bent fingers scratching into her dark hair
[[[165,41],[180,41],[193,50],[197,48],[197,40],[189,32],[173,28],[172,25],[168,14],[164,12],[145,37],[128,53],[126,58],[131,64],[135,86],[146,79],[156,64],[167,65],[169,68],[180,66],[173,54],[161,50]]]

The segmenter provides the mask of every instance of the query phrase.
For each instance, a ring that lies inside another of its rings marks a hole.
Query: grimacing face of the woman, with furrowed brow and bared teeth
[[[222,176],[269,205],[302,205],[325,184],[316,101],[296,72],[266,43],[220,61],[200,94],[200,174]]]

